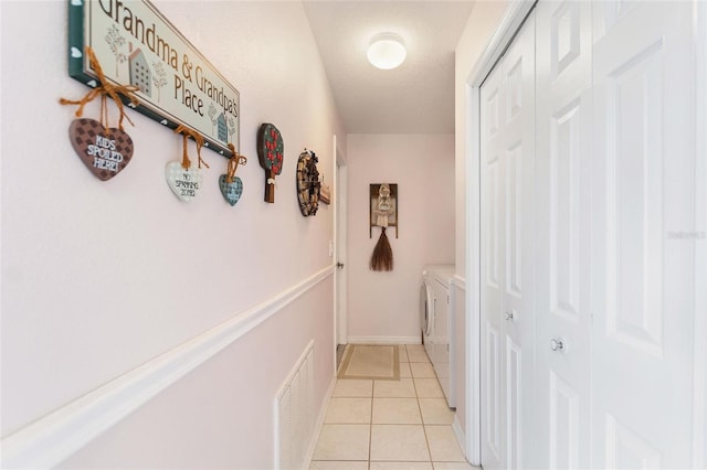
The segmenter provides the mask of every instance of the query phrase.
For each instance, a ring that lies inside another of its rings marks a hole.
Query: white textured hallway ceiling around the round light
[[[348,133],[453,133],[454,49],[469,1],[305,1],[304,8]],[[408,57],[392,71],[366,58],[370,39],[401,35]]]

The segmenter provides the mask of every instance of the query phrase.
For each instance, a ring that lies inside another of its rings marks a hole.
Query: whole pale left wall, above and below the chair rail
[[[331,209],[305,218],[295,195],[302,149],[334,182],[331,136],[346,145],[302,4],[154,4],[241,94],[244,194],[223,201],[226,160],[204,150],[202,193],[178,201],[163,168],[181,138],[134,111],[133,161],[108,182],[94,178],[67,138],[74,108],[57,103],[88,90],[66,72],[67,2],[0,2],[3,439],[333,261]],[[97,104],[85,116],[97,118]],[[275,204],[263,202],[255,150],[264,121],[285,141]],[[327,277],[72,467],[271,468],[271,399],[310,339],[317,404],[331,380],[331,305]]]

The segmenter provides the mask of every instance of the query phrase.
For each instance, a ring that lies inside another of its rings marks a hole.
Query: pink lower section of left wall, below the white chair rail
[[[328,376],[333,370],[331,311],[319,301],[331,288],[329,278],[296,308],[215,355],[61,468],[272,469],[273,397],[307,345],[308,332],[317,332],[315,374]],[[317,404],[325,391],[318,387]]]

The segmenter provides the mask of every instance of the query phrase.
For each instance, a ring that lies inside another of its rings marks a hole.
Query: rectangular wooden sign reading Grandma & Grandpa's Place
[[[68,74],[95,87],[86,46],[109,82],[140,88],[138,111],[170,129],[193,129],[225,157],[229,143],[238,150],[239,92],[149,1],[70,0]]]

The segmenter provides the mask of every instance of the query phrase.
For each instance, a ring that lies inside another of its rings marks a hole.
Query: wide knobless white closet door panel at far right
[[[593,4],[594,468],[689,468],[696,233],[689,1]],[[696,35],[695,35],[696,36]],[[704,174],[699,184],[705,184]],[[704,289],[704,286],[701,287]],[[704,402],[703,402],[704,403]]]

